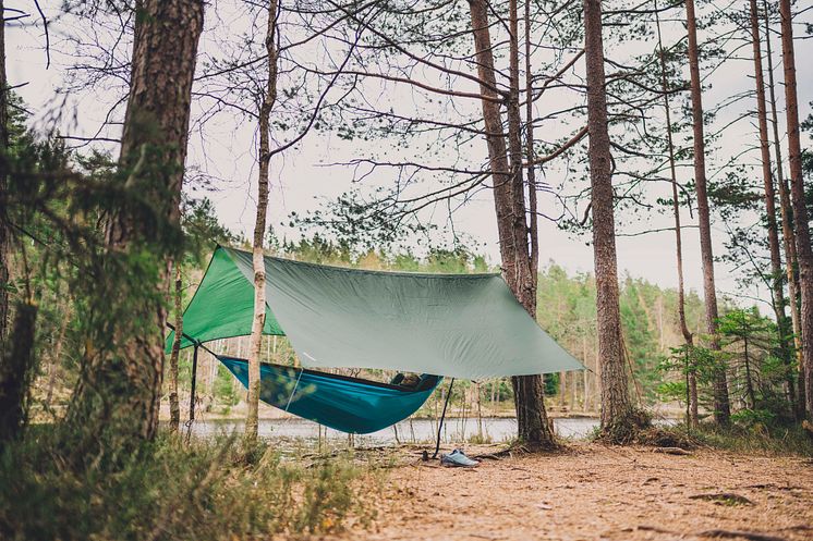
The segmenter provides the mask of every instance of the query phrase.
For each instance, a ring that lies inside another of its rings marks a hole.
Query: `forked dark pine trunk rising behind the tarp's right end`
[[[485,0],[469,2],[472,34],[477,61],[481,94],[497,97],[492,90],[497,86],[494,70],[492,38],[488,29],[488,5]],[[536,287],[529,255],[529,228],[525,223],[524,186],[522,180],[521,122],[519,119],[519,44],[517,2],[510,5],[511,26],[511,91],[509,93],[509,139],[511,165],[509,169],[506,139],[501,134],[502,120],[499,106],[482,100],[486,144],[494,180],[494,206],[500,242],[502,273],[511,292],[525,310],[536,319]],[[519,192],[519,193],[518,193]],[[556,446],[553,427],[547,418],[544,384],[541,376],[511,378],[517,408],[519,437],[534,447]]]

